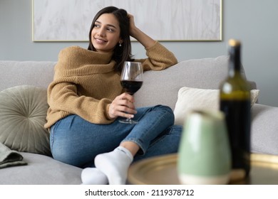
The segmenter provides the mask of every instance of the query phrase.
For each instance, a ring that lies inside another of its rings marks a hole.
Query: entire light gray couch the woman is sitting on
[[[143,87],[135,95],[136,105],[166,104],[175,109],[180,87],[218,89],[227,75],[227,59],[224,55],[185,60],[167,70],[145,72]],[[54,62],[46,61],[0,61],[0,91],[17,85],[34,85],[46,89],[53,79],[54,65]],[[254,82],[250,83],[256,88]],[[277,107],[258,103],[252,106],[253,153],[278,155],[277,115]],[[27,165],[1,168],[0,184],[81,183],[81,168],[61,163],[46,154],[24,149],[19,153]]]

